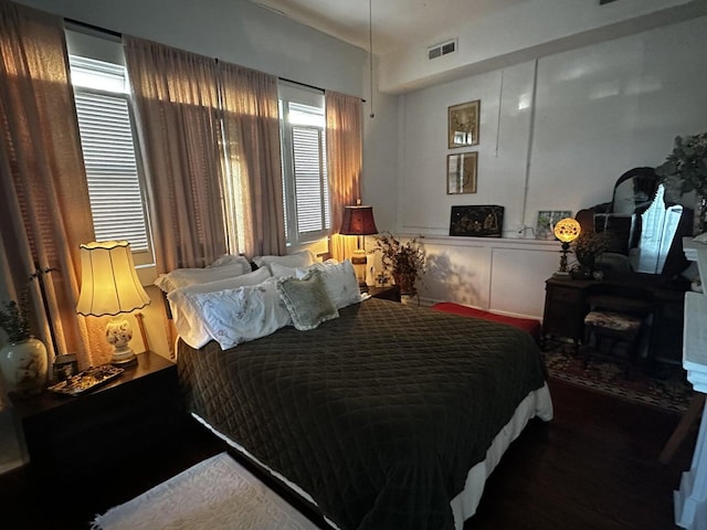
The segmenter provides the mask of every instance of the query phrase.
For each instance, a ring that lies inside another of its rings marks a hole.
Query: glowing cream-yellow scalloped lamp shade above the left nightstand
[[[94,242],[81,248],[81,294],[76,312],[116,316],[150,303],[137,277],[127,241]]]

